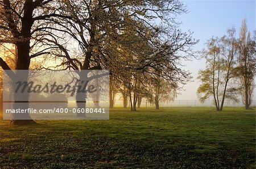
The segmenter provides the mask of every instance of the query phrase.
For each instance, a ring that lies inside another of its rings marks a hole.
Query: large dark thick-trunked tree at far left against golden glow
[[[47,36],[45,32],[61,30],[56,30],[53,22],[49,21],[70,18],[70,16],[60,14],[59,5],[58,1],[53,0],[0,1],[0,43],[16,45],[16,70],[30,69],[31,58],[49,54],[49,50],[54,48],[44,47],[43,37]],[[11,70],[2,58],[0,58],[0,66],[3,70]],[[10,73],[9,75],[11,79],[19,77],[19,73]],[[26,81],[28,77],[23,76],[23,78],[22,80]],[[24,95],[24,97],[27,97],[28,100],[28,95]],[[17,99],[15,95],[14,99]],[[14,104],[14,108],[16,106],[18,105]],[[24,104],[23,108],[28,108],[28,103]],[[28,113],[25,113],[24,116],[27,116],[26,119],[30,119]],[[16,118],[14,117],[14,119]],[[14,124],[28,124],[33,120],[13,120],[13,122]]]

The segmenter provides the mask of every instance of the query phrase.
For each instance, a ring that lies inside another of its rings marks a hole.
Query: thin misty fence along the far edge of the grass
[[[159,103],[160,107],[215,107],[213,100],[207,100],[201,103],[199,100],[174,100],[174,102],[162,102]],[[224,102],[224,107],[243,107],[242,101],[232,102],[226,100]],[[114,107],[123,107],[122,100],[115,100]],[[127,107],[130,107],[128,103]],[[155,107],[154,104],[149,103],[147,100],[142,100],[141,107]],[[256,107],[256,100],[254,100],[250,107]]]

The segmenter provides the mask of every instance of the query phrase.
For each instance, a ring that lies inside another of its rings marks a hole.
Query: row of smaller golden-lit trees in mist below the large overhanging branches
[[[137,74],[127,77],[125,82],[117,82],[115,79],[110,81],[110,108],[114,107],[117,95],[123,101],[123,108],[127,108],[129,103],[131,111],[141,106],[142,100],[146,99],[148,103],[154,104],[159,109],[160,102],[173,101],[179,90],[176,83],[155,74]],[[120,98],[121,96],[121,98]]]

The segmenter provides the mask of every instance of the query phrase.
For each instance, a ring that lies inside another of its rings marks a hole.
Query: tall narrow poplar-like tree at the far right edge
[[[242,20],[240,39],[238,40],[238,78],[241,87],[241,96],[245,109],[249,109],[254,90],[254,77],[256,74],[255,40],[247,31],[246,19]]]

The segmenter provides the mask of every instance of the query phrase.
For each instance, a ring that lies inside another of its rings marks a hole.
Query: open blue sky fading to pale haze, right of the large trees
[[[183,1],[187,5],[188,14],[180,15],[177,20],[182,22],[180,28],[182,31],[191,30],[193,38],[200,42],[195,45],[194,50],[202,50],[205,43],[212,36],[221,37],[226,35],[226,30],[234,27],[239,36],[242,19],[247,19],[247,29],[250,32],[256,30],[254,1]],[[196,79],[198,71],[205,69],[205,60],[196,60],[185,62],[185,70],[189,70],[193,76],[193,82],[184,86],[185,91],[180,91],[177,100],[196,100],[196,90],[200,85]],[[254,90],[254,99],[256,100],[256,91]]]

